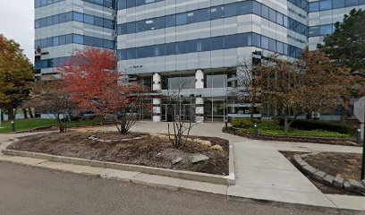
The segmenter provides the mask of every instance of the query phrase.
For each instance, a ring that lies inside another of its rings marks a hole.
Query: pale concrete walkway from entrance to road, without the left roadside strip
[[[365,210],[365,197],[325,195],[284,157],[280,150],[361,153],[360,147],[306,142],[264,142],[222,133],[223,124],[197,125],[192,135],[216,136],[233,144],[236,185],[228,187],[228,196],[275,202],[316,205],[330,208]],[[104,130],[114,130],[106,127]],[[166,123],[139,122],[136,132],[167,133]]]

